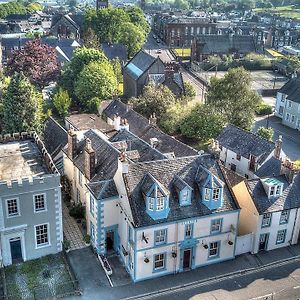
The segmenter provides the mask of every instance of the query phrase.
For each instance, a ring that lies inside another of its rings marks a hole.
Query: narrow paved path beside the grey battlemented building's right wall
[[[65,239],[71,242],[71,250],[86,248],[83,235],[76,221],[69,215],[66,204],[62,201],[63,208],[63,228]]]

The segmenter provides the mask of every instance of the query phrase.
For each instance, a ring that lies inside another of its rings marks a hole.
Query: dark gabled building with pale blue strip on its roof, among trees
[[[149,82],[164,84],[176,96],[185,94],[182,75],[176,63],[165,63],[159,55],[140,50],[123,68],[124,95],[127,98],[138,97]]]

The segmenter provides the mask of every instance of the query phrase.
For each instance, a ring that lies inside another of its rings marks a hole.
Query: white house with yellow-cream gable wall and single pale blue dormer
[[[290,161],[268,160],[260,177],[239,180],[232,191],[240,205],[239,236],[251,235],[248,251],[257,253],[298,243],[300,174]],[[239,237],[238,237],[239,238]]]

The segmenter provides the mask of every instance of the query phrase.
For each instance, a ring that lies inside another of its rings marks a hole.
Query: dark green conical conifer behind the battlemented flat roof
[[[41,130],[42,95],[22,73],[15,73],[3,98],[3,132]]]

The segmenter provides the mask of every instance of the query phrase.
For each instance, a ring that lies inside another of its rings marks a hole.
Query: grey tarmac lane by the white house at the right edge
[[[252,131],[256,132],[259,127],[267,127],[267,120],[267,117],[257,118]],[[282,125],[281,119],[275,116],[269,118],[269,127],[274,129],[274,142],[282,135],[282,148],[290,159],[300,159],[300,131]]]

